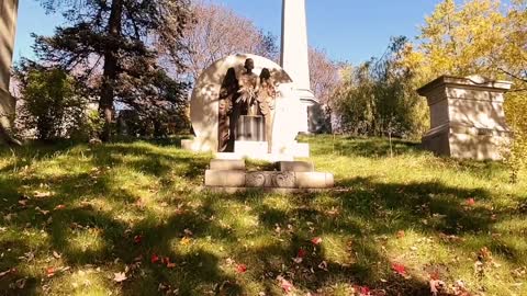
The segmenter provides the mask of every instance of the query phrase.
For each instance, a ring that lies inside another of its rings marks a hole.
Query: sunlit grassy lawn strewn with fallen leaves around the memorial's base
[[[525,178],[305,140],[335,190],[208,193],[177,140],[1,148],[0,295],[527,295]]]

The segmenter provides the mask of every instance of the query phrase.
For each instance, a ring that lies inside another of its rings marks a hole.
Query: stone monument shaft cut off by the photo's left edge
[[[0,1],[0,143],[12,126],[15,101],[9,92],[19,0]],[[5,140],[5,139],[3,139]]]

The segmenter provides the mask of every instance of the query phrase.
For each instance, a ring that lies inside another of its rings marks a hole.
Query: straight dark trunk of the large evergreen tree
[[[111,39],[113,39],[111,43],[114,43],[121,37],[122,14],[123,0],[113,0],[108,24],[108,33]],[[111,140],[112,136],[113,99],[117,79],[117,49],[119,48],[110,45],[106,46],[104,52],[103,83],[101,88],[101,100],[99,102],[99,112],[104,118],[104,127],[101,134],[101,140],[103,141]]]

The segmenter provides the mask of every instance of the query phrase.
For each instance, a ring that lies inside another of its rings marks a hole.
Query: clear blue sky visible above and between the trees
[[[281,0],[213,0],[280,37]],[[439,0],[306,0],[310,44],[336,60],[358,64],[384,53],[390,36],[413,37]],[[32,56],[31,33],[49,35],[60,15],[46,15],[36,0],[21,0],[15,60]]]

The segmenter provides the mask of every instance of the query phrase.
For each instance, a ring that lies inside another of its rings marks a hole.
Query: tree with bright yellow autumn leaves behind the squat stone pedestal
[[[415,88],[441,75],[513,80],[505,109],[515,133],[508,159],[515,178],[527,156],[527,0],[444,0],[401,64],[414,72]]]

